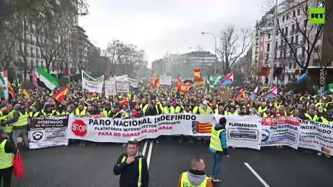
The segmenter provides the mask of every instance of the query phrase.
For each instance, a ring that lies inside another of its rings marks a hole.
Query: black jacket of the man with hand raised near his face
[[[139,179],[139,158],[142,158],[142,187],[148,187],[149,173],[147,161],[144,156],[139,152],[135,161],[127,164],[126,161],[121,163],[123,157],[128,157],[127,153],[123,153],[114,165],[114,175],[120,175],[119,186],[120,187],[137,187],[137,181]]]

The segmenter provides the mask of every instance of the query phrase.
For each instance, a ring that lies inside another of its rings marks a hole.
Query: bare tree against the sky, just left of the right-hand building
[[[247,51],[253,41],[253,32],[250,28],[241,28],[240,33],[241,37],[234,26],[221,30],[221,46],[216,52],[221,60],[224,74],[230,73],[234,63]]]

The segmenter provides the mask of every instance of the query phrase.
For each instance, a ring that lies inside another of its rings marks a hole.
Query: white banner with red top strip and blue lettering
[[[292,116],[262,118],[262,146],[288,145],[297,149],[300,123]]]

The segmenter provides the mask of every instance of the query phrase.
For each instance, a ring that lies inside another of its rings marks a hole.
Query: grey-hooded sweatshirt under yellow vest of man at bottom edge
[[[189,182],[192,185],[198,186],[198,185],[202,184],[203,181],[206,180],[206,174],[205,174],[205,172],[200,171],[200,170],[188,170],[187,179],[189,179]],[[182,187],[181,181],[182,181],[182,175],[180,175],[180,178],[178,180],[178,187]],[[212,187],[211,179],[207,180],[206,187]]]

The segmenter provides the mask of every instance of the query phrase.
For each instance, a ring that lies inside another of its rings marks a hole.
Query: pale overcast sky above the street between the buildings
[[[112,39],[139,46],[149,65],[165,53],[188,53],[198,44],[214,51],[214,33],[233,24],[254,28],[267,0],[87,0],[79,18],[90,41],[106,48]]]

